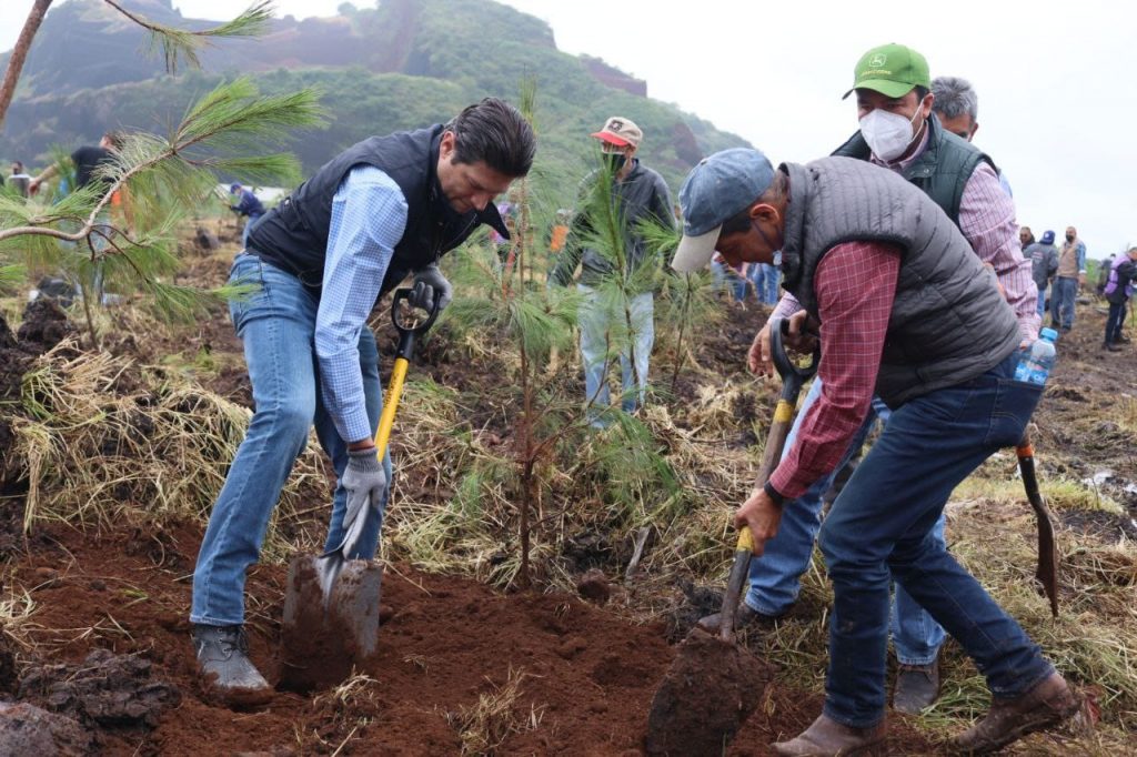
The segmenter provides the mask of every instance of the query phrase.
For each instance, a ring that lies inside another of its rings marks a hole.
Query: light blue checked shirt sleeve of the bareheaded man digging
[[[352,168],[332,199],[315,343],[324,407],[349,443],[371,438],[359,332],[375,307],[406,225],[402,190],[374,166]]]

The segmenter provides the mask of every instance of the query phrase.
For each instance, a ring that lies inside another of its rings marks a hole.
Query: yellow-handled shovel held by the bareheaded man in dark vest
[[[375,433],[382,460],[402,396],[402,383],[414,357],[415,341],[438,317],[438,298],[422,323],[407,325],[400,315],[414,290],[396,290],[391,323],[399,333],[391,380]],[[379,600],[383,568],[374,560],[352,559],[367,515],[377,504],[345,514],[345,536],[323,555],[298,555],[289,563],[281,633],[280,687],[307,692],[343,681],[351,668],[371,657],[379,642]]]

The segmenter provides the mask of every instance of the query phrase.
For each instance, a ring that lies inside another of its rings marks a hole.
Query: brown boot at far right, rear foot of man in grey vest
[[[1077,694],[1057,673],[1015,699],[994,700],[987,717],[955,737],[955,754],[987,755],[1078,712]]]

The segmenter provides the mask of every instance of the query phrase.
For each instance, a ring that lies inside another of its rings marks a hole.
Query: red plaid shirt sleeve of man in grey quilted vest
[[[789,455],[770,476],[770,485],[787,499],[797,499],[837,467],[869,413],[899,269],[901,249],[882,242],[838,244],[818,265],[818,375],[824,384]]]

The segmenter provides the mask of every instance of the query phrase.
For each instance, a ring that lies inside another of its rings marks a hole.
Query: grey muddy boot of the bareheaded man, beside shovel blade
[[[202,684],[222,704],[250,707],[272,699],[273,688],[249,659],[243,625],[194,623],[193,650]]]

